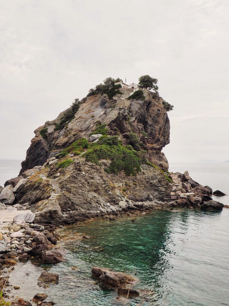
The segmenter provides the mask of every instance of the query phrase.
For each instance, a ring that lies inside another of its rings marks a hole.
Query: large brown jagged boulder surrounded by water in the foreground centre
[[[101,267],[93,267],[92,275],[103,282],[103,284],[108,288],[124,287],[137,282],[137,279],[131,275],[111,271],[109,269]]]

